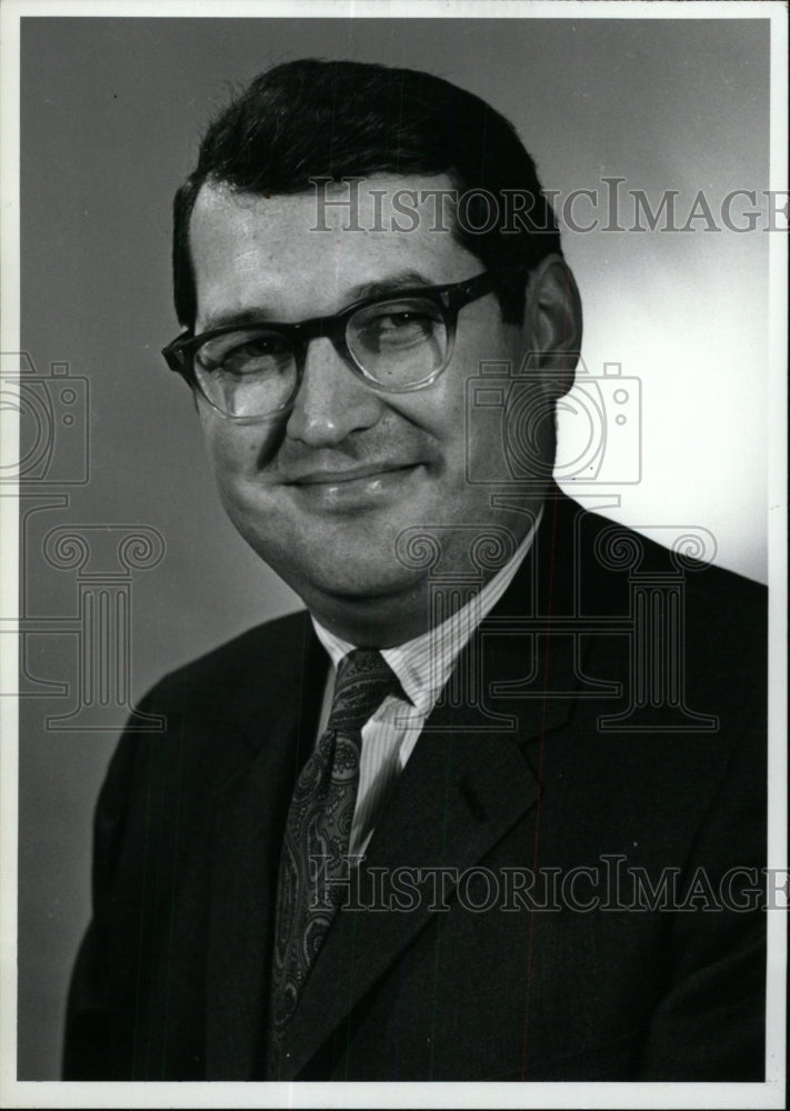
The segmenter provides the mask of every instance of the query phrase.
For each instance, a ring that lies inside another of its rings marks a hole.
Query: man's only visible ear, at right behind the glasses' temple
[[[524,291],[524,351],[556,398],[573,384],[581,351],[581,298],[573,273],[559,254],[530,271]]]

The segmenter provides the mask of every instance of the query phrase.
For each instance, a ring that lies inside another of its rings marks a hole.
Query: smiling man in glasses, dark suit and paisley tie
[[[121,740],[64,1075],[761,1079],[762,592],[553,486],[581,311],[513,129],[291,62],[174,214],[166,357],[307,612]]]

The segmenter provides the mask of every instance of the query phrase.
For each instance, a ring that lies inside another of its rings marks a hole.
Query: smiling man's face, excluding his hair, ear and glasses
[[[480,273],[480,260],[449,228],[436,230],[432,204],[418,206],[414,230],[391,227],[389,200],[398,190],[449,187],[443,177],[368,179],[359,190],[359,223],[387,229],[371,232],[343,230],[348,210],[333,208],[327,209],[331,230],[313,230],[313,193],[234,196],[204,186],[190,228],[196,333],[249,310],[279,322],[332,314],[368,296],[373,284],[378,293],[402,280],[404,271],[426,286]],[[452,359],[424,389],[377,391],[321,338],[309,346],[287,416],[236,424],[201,402],[227,512],[319,619],[326,614],[331,624],[331,609],[349,600],[386,608],[408,605],[411,597],[416,604],[424,573],[396,554],[404,529],[496,523],[517,538],[526,532],[526,517],[492,509],[491,488],[467,479],[468,460],[472,474],[500,473],[506,463],[490,421],[477,428],[472,413],[467,429],[466,410],[467,381],[479,374],[480,361],[518,368],[529,349],[529,327],[503,324],[497,299],[488,294],[461,309]],[[446,529],[443,536],[451,538],[446,558],[462,561],[469,529]]]

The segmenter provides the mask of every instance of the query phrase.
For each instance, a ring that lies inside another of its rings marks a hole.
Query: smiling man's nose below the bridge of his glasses
[[[308,344],[302,381],[286,433],[311,448],[339,444],[351,432],[372,428],[383,402],[320,337]]]

